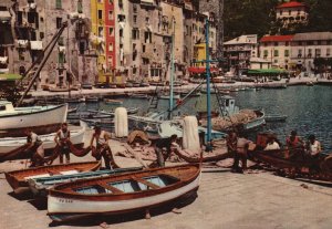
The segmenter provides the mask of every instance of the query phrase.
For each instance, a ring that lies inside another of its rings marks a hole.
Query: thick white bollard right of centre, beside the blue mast
[[[200,152],[198,122],[195,116],[186,116],[183,127],[183,147],[193,152]]]

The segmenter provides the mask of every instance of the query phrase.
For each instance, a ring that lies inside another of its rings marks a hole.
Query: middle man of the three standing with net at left
[[[71,138],[71,132],[68,129],[68,124],[63,123],[54,137],[54,142],[59,146],[59,150],[60,150],[59,152],[60,164],[63,164],[63,155],[65,155],[65,164],[69,164],[71,160],[70,146],[69,146],[70,138]]]

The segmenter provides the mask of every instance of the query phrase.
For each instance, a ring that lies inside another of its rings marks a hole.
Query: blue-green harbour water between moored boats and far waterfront
[[[205,96],[205,95],[201,95]],[[314,134],[322,143],[325,153],[332,152],[332,89],[329,86],[292,86],[286,90],[262,90],[259,92],[241,91],[232,94],[240,108],[264,108],[267,114],[284,114],[284,123],[267,124],[263,129],[271,129],[279,135],[281,142],[292,129],[307,138]],[[184,114],[195,114],[196,105],[201,98],[193,97],[181,108]],[[205,100],[203,100],[205,101]],[[215,98],[212,106],[216,107]],[[125,107],[139,107],[139,113],[146,112],[147,100],[124,98]],[[168,101],[162,100],[158,110],[168,107]],[[110,111],[114,107],[104,103],[81,105],[80,110],[103,108]]]

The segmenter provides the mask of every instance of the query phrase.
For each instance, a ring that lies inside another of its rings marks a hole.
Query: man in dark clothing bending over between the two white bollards
[[[157,164],[159,167],[165,167],[165,162],[170,155],[172,145],[176,146],[177,135],[172,135],[167,138],[159,139],[155,145],[155,152],[157,155]],[[163,149],[166,148],[166,154],[163,154]]]

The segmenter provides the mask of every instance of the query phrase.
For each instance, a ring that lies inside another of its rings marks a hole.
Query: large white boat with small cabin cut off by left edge
[[[13,107],[12,103],[0,101],[0,137],[24,136],[28,127],[40,135],[56,132],[66,113],[68,104]]]

